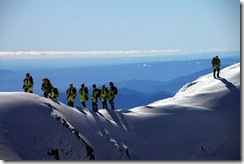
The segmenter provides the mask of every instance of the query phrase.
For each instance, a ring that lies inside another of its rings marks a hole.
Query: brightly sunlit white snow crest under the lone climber
[[[221,78],[218,79],[214,79],[212,73],[202,76],[184,85],[174,97],[159,100],[150,104],[150,106],[176,103],[211,108],[216,104],[216,99],[228,93],[230,93],[230,96],[240,94],[240,63],[221,70],[220,76]],[[218,93],[218,96],[214,96],[216,93]]]

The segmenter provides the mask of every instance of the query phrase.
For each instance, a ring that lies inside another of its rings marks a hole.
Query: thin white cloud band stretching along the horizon
[[[90,51],[0,51],[0,58],[7,57],[139,57],[149,55],[186,55],[211,52],[238,51],[232,49],[190,50],[90,50]],[[68,56],[67,56],[68,55]],[[117,56],[112,56],[117,55]]]

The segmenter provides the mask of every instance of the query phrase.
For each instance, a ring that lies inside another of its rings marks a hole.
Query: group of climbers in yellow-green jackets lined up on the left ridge
[[[30,73],[26,73],[26,78],[23,81],[23,89],[25,92],[33,93],[33,86],[34,81]],[[56,87],[52,85],[50,80],[48,78],[42,79],[42,85],[41,89],[43,91],[43,96],[46,98],[50,98],[53,101],[57,101],[57,98],[59,96],[59,91]],[[102,88],[97,88],[96,84],[92,84],[92,110],[94,112],[98,112],[98,100],[102,102],[102,108],[108,109],[107,100],[111,106],[111,109],[115,109],[114,106],[114,98],[118,94],[117,87],[114,86],[114,83],[111,81],[109,82],[109,88],[105,86],[105,84],[102,85]],[[68,101],[68,105],[70,107],[74,107],[75,97],[77,96],[76,88],[73,86],[72,83],[69,84],[69,88],[66,90],[66,98]],[[86,103],[89,99],[89,90],[85,86],[84,83],[81,84],[81,88],[79,89],[79,97],[80,102],[83,106],[83,108],[86,108]]]

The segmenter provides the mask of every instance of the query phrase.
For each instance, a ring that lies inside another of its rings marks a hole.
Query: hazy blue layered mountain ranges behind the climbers
[[[221,59],[221,69],[240,61],[239,56]],[[107,65],[97,67],[75,67],[60,69],[29,70],[34,78],[34,93],[42,95],[41,79],[48,77],[59,89],[59,100],[66,103],[65,91],[69,83],[79,90],[84,82],[90,88],[96,83],[114,81],[119,89],[116,96],[116,107],[120,109],[145,105],[158,99],[172,97],[185,84],[199,76],[212,72],[211,59],[188,61],[146,62],[123,65]],[[23,91],[24,71],[0,70],[0,91]],[[221,73],[220,73],[221,75]],[[108,86],[108,85],[107,85]],[[91,106],[90,100],[88,107]],[[80,106],[77,96],[75,105]]]

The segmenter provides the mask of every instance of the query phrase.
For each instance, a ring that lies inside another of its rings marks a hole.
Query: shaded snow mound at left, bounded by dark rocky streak
[[[86,143],[52,116],[54,112],[49,105],[55,106],[54,102],[27,93],[1,93],[0,102],[1,144],[7,141],[1,159],[52,160],[55,149],[59,151],[59,159],[89,159]]]

